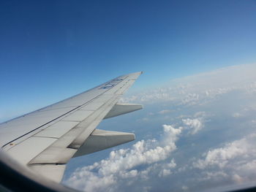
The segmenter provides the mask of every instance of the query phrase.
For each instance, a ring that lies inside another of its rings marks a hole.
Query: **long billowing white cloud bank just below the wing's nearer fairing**
[[[183,128],[169,125],[162,127],[163,136],[159,141],[141,140],[130,149],[113,150],[108,158],[77,169],[64,183],[85,191],[105,191],[106,188],[115,188],[120,180],[129,178],[129,183],[132,183],[135,177],[146,180],[149,173],[159,170],[159,177],[166,177],[171,174],[171,169],[176,167],[174,159],[167,163],[157,163],[169,158],[173,150],[176,150],[175,142]],[[148,166],[139,170],[138,166],[142,165]]]

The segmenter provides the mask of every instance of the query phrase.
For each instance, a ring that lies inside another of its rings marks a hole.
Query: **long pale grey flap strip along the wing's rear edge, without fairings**
[[[42,153],[35,156],[29,164],[67,164],[113,105],[116,104],[116,101],[118,101],[117,96],[106,101],[99,110],[93,112],[89,117],[68,131],[67,134],[64,134],[63,137],[43,150]],[[83,108],[83,112],[86,112],[84,111],[85,109],[86,107]]]

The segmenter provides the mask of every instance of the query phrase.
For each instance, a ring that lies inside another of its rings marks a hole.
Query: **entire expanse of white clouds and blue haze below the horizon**
[[[208,191],[255,181],[255,69],[230,66],[124,98],[144,103],[127,121],[142,139],[80,166],[64,183],[83,191]]]

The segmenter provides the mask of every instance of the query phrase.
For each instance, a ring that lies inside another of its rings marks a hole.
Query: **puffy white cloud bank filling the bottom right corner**
[[[197,173],[196,177],[187,179],[193,188],[199,183],[207,189],[216,188],[223,191],[225,185],[236,188],[236,185],[255,183],[256,180],[256,134],[249,134],[241,139],[228,142],[203,153],[202,158],[191,158],[189,169],[184,174]],[[180,169],[180,168],[179,168]],[[179,170],[183,171],[183,170]],[[196,170],[195,170],[196,169]],[[192,189],[191,189],[192,190]],[[197,191],[195,187],[192,191]]]

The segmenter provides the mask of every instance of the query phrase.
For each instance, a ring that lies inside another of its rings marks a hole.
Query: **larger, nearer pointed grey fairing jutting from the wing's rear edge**
[[[134,139],[135,134],[95,129],[88,139],[86,139],[86,142],[75,153],[74,157],[105,150],[109,147],[133,141]]]

